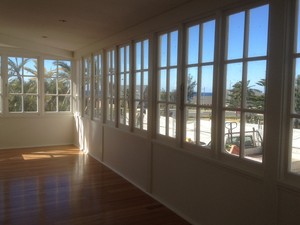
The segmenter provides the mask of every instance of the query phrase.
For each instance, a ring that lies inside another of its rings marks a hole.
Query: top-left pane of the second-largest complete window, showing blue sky
[[[192,26],[187,31],[187,63],[196,64],[199,58],[199,32],[200,26]]]

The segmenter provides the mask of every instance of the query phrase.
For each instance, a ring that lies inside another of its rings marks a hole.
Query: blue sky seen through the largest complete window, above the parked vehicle
[[[264,5],[249,11],[249,42],[247,57],[267,55],[269,6]],[[244,53],[244,31],[246,13],[240,12],[228,17],[228,48],[227,59],[239,59]],[[266,77],[266,61],[256,60],[247,64],[247,80],[251,88],[264,92],[264,88],[256,83]],[[227,89],[234,83],[241,81],[243,66],[241,63],[227,65]]]

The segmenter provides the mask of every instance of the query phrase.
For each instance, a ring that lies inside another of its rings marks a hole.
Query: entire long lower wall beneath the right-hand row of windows
[[[193,224],[268,224],[263,177],[93,123],[85,121],[90,154]]]

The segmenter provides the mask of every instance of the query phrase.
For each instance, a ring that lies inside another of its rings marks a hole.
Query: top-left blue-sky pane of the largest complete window
[[[228,17],[227,59],[243,57],[245,12]]]

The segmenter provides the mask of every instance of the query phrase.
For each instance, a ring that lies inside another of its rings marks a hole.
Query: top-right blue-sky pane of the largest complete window
[[[248,56],[267,55],[269,6],[264,5],[250,10]]]

